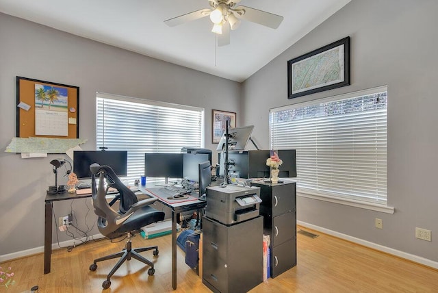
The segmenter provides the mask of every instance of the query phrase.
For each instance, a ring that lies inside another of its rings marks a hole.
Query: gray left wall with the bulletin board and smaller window
[[[79,86],[79,136],[88,139],[83,149],[96,146],[97,91],[204,107],[208,149],[214,147],[211,110],[240,110],[237,82],[0,14],[0,256],[44,244],[44,196],[55,180],[49,162],[66,157],[23,160],[4,152],[16,136],[16,76]],[[58,177],[65,183],[62,173]],[[68,214],[70,203],[54,204],[56,218]],[[81,229],[91,228],[96,220],[90,200],[72,205]],[[96,233],[94,227],[90,235]],[[60,241],[70,239],[58,234]]]

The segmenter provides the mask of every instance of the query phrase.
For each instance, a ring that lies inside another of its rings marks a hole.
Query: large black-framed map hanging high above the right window
[[[350,85],[350,37],[287,61],[287,98]]]

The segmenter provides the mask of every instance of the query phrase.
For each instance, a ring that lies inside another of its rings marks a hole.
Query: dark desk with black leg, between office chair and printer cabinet
[[[177,290],[177,215],[182,212],[203,209],[207,202],[198,200],[198,194],[194,196],[194,200],[190,201],[169,201],[157,196],[157,193],[154,193],[154,189],[156,188],[140,188],[142,192],[155,197],[159,202],[166,205],[166,207],[170,207],[172,210],[172,288]]]

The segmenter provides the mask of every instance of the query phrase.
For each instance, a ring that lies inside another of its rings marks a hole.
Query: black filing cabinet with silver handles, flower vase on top
[[[260,188],[263,233],[270,236],[271,277],[296,266],[296,183],[254,181]]]

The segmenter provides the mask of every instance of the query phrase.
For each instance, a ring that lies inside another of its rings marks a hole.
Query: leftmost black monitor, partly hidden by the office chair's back
[[[73,172],[78,179],[90,179],[90,165],[107,165],[119,177],[127,176],[128,151],[73,151]]]

